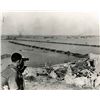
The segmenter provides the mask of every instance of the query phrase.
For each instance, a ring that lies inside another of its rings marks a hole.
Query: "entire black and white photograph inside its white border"
[[[89,12],[2,12],[1,90],[99,90],[99,17]]]

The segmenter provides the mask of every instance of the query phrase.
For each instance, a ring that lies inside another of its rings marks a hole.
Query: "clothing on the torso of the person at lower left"
[[[23,90],[24,89],[24,80],[22,73],[14,66],[10,64],[5,70],[1,72],[1,85],[7,85],[8,89],[12,90]]]

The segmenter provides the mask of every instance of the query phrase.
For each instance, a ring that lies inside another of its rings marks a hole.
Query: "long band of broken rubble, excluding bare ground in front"
[[[90,63],[90,59],[86,58],[53,66],[45,64],[41,68],[28,67],[24,76],[26,80],[31,81],[35,81],[35,79],[41,80],[41,82],[49,82],[50,79],[54,81],[64,80],[66,85],[100,89],[100,76],[95,70],[96,66],[92,66]]]

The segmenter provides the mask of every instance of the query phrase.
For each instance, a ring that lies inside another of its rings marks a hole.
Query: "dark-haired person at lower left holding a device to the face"
[[[22,73],[26,66],[24,66],[24,60],[22,55],[14,53],[11,56],[12,64],[1,72],[1,88],[6,85],[9,90],[24,90],[24,80]]]

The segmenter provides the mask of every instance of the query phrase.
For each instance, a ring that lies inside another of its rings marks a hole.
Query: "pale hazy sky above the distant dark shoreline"
[[[2,14],[2,34],[98,35],[95,13],[6,12]]]

